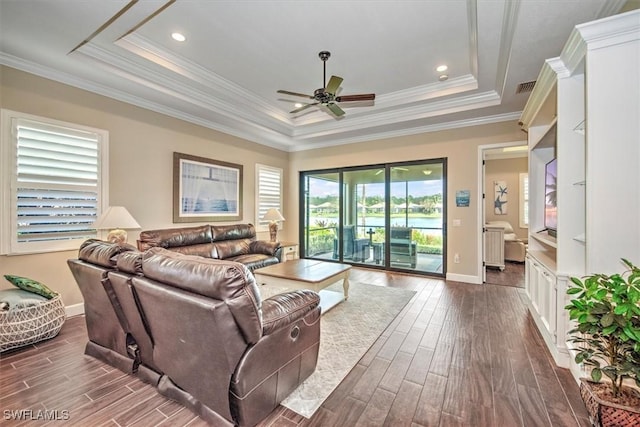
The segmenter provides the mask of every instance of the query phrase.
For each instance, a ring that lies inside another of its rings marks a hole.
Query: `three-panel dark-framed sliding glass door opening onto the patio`
[[[301,173],[302,256],[444,274],[446,160]]]

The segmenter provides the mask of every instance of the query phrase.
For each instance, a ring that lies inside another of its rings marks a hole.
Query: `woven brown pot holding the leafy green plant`
[[[640,408],[602,400],[595,394],[591,384],[594,383],[580,378],[580,396],[587,407],[591,424],[596,427],[640,426]]]

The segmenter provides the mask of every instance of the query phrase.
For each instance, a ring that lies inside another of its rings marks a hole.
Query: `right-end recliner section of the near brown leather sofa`
[[[158,390],[208,422],[254,425],[315,370],[317,293],[262,301],[245,265],[162,248],[143,254],[142,271],[132,283],[164,373]]]

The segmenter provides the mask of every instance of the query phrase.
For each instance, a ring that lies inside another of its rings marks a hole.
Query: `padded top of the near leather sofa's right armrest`
[[[310,290],[274,295],[262,301],[262,335],[295,323],[318,307],[320,296]]]

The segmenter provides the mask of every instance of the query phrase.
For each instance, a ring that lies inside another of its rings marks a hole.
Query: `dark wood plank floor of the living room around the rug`
[[[417,294],[311,419],[279,407],[261,427],[589,425],[576,383],[552,362],[521,290],[356,268],[351,280]],[[205,425],[153,387],[84,356],[86,340],[76,317],[58,337],[3,354],[0,424]],[[58,421],[33,419],[42,410]]]

